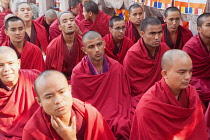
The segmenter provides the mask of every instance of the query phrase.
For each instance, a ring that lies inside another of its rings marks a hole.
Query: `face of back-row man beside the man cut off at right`
[[[180,24],[181,15],[177,11],[169,11],[168,16],[164,17],[169,32],[176,32]]]

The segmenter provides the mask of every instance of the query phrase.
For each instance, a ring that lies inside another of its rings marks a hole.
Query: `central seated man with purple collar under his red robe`
[[[104,55],[105,42],[98,32],[87,32],[82,42],[87,56],[73,69],[72,95],[96,107],[116,139],[129,139],[132,104],[125,71]]]

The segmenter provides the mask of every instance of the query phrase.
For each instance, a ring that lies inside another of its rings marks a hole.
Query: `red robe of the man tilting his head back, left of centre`
[[[63,72],[67,79],[70,80],[72,69],[84,56],[81,50],[83,46],[82,37],[75,33],[71,52],[67,52],[68,49],[65,46],[62,34],[50,42],[46,52],[46,68]],[[65,62],[65,53],[70,53],[68,62]]]

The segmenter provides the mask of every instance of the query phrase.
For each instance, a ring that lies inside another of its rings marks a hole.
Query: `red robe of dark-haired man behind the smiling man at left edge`
[[[2,44],[2,46],[11,47],[11,42],[7,41]],[[12,45],[13,46],[13,45]],[[22,53],[20,53],[15,47],[12,47],[21,60],[21,69],[37,69],[39,71],[45,70],[45,63],[42,56],[42,51],[36,45],[25,41]]]

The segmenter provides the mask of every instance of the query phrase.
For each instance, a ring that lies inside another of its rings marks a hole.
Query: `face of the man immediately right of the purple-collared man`
[[[160,25],[148,25],[145,31],[140,32],[141,37],[144,40],[144,44],[147,48],[155,48],[160,45],[162,38],[162,26]]]

